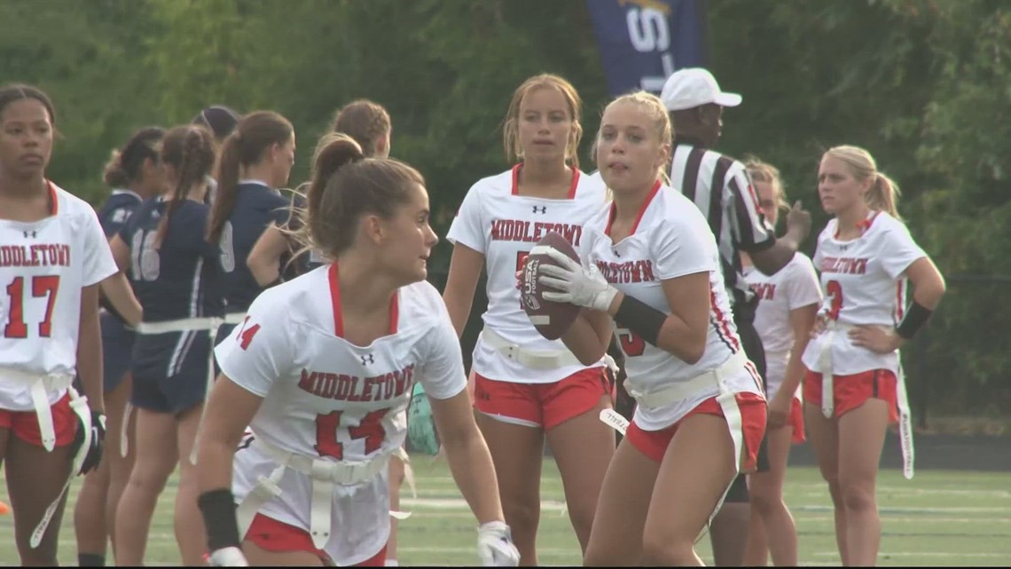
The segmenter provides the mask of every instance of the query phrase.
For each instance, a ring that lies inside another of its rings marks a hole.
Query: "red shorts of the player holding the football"
[[[735,398],[737,406],[741,410],[741,423],[744,427],[745,461],[741,465],[741,471],[753,471],[758,460],[758,446],[761,444],[762,436],[765,436],[768,406],[765,399],[756,393],[738,393]],[[643,430],[633,420],[629,423],[625,437],[643,455],[658,463],[663,462],[663,456],[667,453],[667,446],[670,445],[670,439],[677,432],[678,425],[684,419],[696,414],[724,416],[723,408],[720,407],[715,397],[711,397],[688,411],[688,414],[684,415],[681,420],[664,429]]]

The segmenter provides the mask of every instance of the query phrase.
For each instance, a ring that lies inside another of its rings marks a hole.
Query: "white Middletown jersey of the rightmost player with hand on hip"
[[[829,318],[848,326],[897,325],[905,310],[903,273],[926,253],[906,226],[885,212],[872,213],[863,234],[851,241],[836,239],[837,226],[835,219],[828,222],[818,236],[814,257]],[[854,345],[844,332],[822,334],[808,342],[804,364],[809,370],[819,371],[819,354],[827,339],[832,342],[833,375],[870,370],[890,370],[898,375],[899,350],[876,353]]]

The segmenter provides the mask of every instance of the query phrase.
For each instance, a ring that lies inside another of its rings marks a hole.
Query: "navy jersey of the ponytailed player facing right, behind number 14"
[[[284,227],[290,206],[280,193],[260,182],[240,183],[236,205],[221,229],[221,268],[225,311],[245,313],[263,290],[253,278],[246,259],[272,222]]]

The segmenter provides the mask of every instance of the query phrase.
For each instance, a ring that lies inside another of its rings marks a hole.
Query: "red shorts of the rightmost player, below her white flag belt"
[[[810,370],[804,376],[804,401],[819,408],[821,408],[821,374]],[[868,399],[881,399],[888,404],[889,422],[899,422],[897,384],[895,374],[888,370],[870,370],[851,376],[833,376],[835,416],[841,417],[846,412],[863,405]]]

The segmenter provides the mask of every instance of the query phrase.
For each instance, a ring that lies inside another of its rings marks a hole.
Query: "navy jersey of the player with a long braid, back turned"
[[[159,221],[167,207],[161,197],[146,200],[119,231],[130,248],[129,277],[144,308],[144,322],[222,316],[220,250],[204,239],[210,208],[184,199],[156,248]],[[133,374],[146,379],[172,377],[192,358],[206,361],[209,349],[206,331],[139,334]]]

